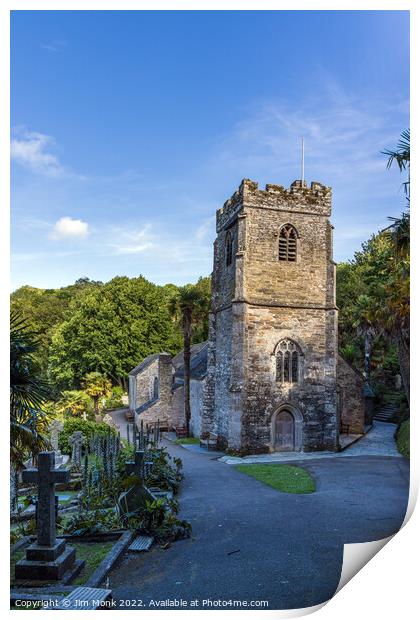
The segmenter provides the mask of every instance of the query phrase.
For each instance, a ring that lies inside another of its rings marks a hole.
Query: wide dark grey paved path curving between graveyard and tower
[[[372,449],[378,441],[370,440]],[[409,464],[402,457],[354,458],[346,451],[301,458],[296,464],[314,476],[317,491],[292,495],[211,452],[167,445],[184,462],[180,516],[192,524],[192,537],[166,550],[125,554],[109,576],[121,608],[128,600],[137,611],[180,609],[181,600],[185,609],[249,609],[255,601],[264,609],[317,605],[336,590],[344,543],[385,538],[404,520]]]

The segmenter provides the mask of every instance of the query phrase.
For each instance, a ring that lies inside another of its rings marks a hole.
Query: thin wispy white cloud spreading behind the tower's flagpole
[[[264,103],[237,123],[216,153],[240,176],[269,182],[292,181],[300,176],[300,143],[305,138],[307,179],[333,187],[365,190],[384,179],[385,159],[380,151],[393,145],[404,125],[396,125],[406,103],[365,101],[327,83],[316,96],[294,106],[284,101]],[[407,118],[408,121],[408,118]],[[398,121],[400,122],[400,121]],[[292,173],[293,177],[290,176]]]

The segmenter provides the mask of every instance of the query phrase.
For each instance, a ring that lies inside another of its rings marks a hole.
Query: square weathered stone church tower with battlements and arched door
[[[217,212],[202,431],[247,453],[336,450],[331,189],[242,181]]]

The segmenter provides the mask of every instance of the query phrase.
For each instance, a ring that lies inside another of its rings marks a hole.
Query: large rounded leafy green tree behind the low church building
[[[116,277],[88,286],[69,303],[50,347],[50,373],[61,389],[78,388],[92,371],[127,390],[128,372],[151,353],[175,353],[181,334],[168,294],[138,278]]]

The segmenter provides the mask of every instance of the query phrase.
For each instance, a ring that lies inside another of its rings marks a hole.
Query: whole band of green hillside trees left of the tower
[[[210,290],[210,278],[199,286]],[[61,289],[23,286],[11,295],[12,309],[37,335],[34,353],[40,374],[62,390],[82,387],[91,372],[127,388],[127,373],[158,351],[182,349],[182,333],[169,302],[177,286],[157,286],[144,277],[116,277],[107,283],[81,278]],[[194,329],[193,342],[207,337],[207,316]]]

